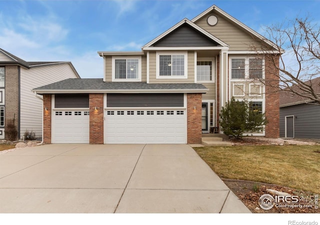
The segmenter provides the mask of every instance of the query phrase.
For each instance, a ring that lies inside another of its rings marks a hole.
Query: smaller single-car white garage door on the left
[[[51,142],[89,143],[89,111],[53,111]]]

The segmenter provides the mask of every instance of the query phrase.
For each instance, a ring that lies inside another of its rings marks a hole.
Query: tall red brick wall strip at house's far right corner
[[[279,56],[274,56],[277,66]],[[274,68],[273,60],[265,59],[265,116],[268,123],[265,125],[265,137],[279,137],[279,85],[278,70]]]

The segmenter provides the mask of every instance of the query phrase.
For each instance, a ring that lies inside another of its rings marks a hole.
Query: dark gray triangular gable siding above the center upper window
[[[217,46],[218,43],[206,37],[188,24],[183,24],[155,42],[154,47]]]

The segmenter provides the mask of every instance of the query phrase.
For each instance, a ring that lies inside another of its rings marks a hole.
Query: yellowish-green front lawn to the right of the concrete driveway
[[[195,147],[221,178],[243,179],[320,193],[320,145]]]

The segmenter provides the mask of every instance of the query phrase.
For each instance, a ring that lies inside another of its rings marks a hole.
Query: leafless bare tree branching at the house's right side
[[[274,44],[250,47],[268,61],[265,69],[274,78],[257,79],[273,91],[288,91],[305,102],[320,104],[319,25],[305,17],[266,27],[265,31]]]

